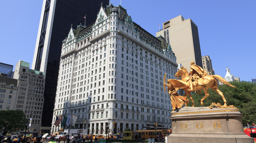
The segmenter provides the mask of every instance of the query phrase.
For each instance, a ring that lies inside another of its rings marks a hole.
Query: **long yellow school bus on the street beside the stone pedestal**
[[[156,132],[156,133],[155,133]],[[156,135],[163,137],[168,134],[167,130],[138,130],[136,133],[141,136],[141,139],[156,138]]]

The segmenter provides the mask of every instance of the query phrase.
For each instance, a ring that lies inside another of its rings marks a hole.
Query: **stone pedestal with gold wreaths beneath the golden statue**
[[[184,107],[172,112],[172,134],[167,143],[254,143],[244,133],[238,109]]]

